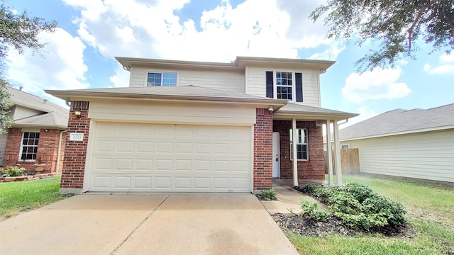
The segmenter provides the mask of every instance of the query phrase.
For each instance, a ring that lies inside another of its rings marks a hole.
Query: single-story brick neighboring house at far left
[[[67,129],[69,110],[18,89],[7,90],[13,102],[13,125],[0,135],[1,164],[21,164],[34,173],[34,164],[42,159],[45,166],[40,173],[61,172],[62,133]]]

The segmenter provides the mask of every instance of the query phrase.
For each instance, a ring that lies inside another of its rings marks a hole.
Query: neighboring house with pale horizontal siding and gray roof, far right
[[[454,183],[454,103],[382,113],[339,136],[359,149],[361,173]]]

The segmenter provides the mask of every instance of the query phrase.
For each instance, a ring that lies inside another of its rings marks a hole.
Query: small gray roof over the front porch
[[[304,106],[301,103],[287,103],[286,106],[280,108],[275,112],[277,115],[306,115],[314,116],[316,118],[326,119],[336,119],[336,120],[345,120],[347,118],[353,118],[358,116],[356,113],[345,113],[343,111],[334,111],[325,108],[313,107],[313,106]]]

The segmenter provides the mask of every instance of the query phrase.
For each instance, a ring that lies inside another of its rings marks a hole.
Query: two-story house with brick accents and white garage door
[[[355,116],[320,108],[331,61],[116,59],[131,72],[128,88],[47,91],[71,105],[62,193],[323,183],[321,125]]]

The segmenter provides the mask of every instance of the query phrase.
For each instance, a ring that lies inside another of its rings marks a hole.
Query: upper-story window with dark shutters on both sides
[[[303,79],[300,72],[266,72],[267,97],[303,101]]]

